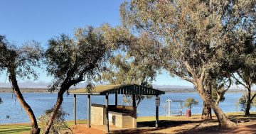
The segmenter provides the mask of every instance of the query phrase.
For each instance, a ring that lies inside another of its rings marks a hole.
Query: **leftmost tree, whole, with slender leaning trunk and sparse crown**
[[[18,48],[15,45],[11,45],[2,35],[0,36],[0,44],[0,67],[6,69],[16,99],[18,99],[18,102],[30,118],[31,133],[40,133],[36,117],[31,106],[23,98],[17,79],[37,78],[35,68],[41,66],[40,61],[43,50],[36,41],[28,42]]]

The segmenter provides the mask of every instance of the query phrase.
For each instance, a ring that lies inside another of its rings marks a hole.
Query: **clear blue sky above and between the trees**
[[[0,4],[0,34],[16,45],[28,40],[36,40],[46,46],[47,40],[61,33],[73,35],[75,28],[100,26],[109,23],[118,26],[119,5],[122,0],[4,0]],[[43,69],[37,70],[39,78],[36,82],[50,82]],[[19,80],[25,82],[26,80]],[[0,74],[0,82],[8,83],[6,73]],[[153,84],[192,86],[178,77],[171,77],[162,72]]]

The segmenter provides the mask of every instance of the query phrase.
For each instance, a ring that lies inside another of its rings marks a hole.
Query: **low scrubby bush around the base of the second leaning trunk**
[[[39,116],[38,121],[41,126],[41,133],[43,133],[43,130],[45,130],[53,110],[53,108],[50,108],[46,110],[43,115]],[[50,133],[58,134],[63,133],[63,130],[70,129],[68,128],[68,124],[65,122],[65,116],[68,116],[68,113],[65,113],[65,111],[60,108],[53,121],[53,125],[50,127]]]

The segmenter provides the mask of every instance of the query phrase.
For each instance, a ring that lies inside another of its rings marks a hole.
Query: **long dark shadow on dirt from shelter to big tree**
[[[185,125],[189,123],[201,123],[202,121],[168,121],[168,120],[161,120],[159,121],[159,128],[155,128],[155,121],[144,121],[137,123],[139,128],[134,129],[125,129],[125,130],[112,130],[112,133],[122,133],[122,134],[135,134],[135,133],[149,133],[150,131],[154,130],[162,130],[165,128],[175,127],[178,125]],[[146,127],[146,128],[143,128]],[[158,133],[161,134],[161,133]]]

